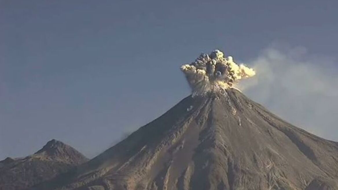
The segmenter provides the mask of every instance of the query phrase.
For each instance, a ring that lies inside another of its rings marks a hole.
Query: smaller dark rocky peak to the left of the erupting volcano
[[[86,161],[80,152],[53,139],[33,155],[0,161],[0,190],[26,189]]]

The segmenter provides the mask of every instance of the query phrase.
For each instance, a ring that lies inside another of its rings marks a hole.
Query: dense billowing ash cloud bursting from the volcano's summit
[[[183,65],[193,96],[208,92],[222,93],[242,78],[252,77],[256,72],[243,64],[237,65],[232,56],[225,57],[223,52],[214,50],[201,55],[190,65]]]

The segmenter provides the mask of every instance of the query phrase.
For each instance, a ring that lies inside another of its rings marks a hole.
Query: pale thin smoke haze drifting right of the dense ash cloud
[[[333,57],[303,47],[271,46],[252,61],[257,75],[242,91],[290,123],[338,141],[338,71]]]

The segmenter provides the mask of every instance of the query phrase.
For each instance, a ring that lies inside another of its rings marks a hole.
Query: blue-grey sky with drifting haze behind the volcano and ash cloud
[[[179,66],[219,48],[243,92],[338,140],[337,0],[0,0],[0,160],[61,140],[88,157],[189,95]]]

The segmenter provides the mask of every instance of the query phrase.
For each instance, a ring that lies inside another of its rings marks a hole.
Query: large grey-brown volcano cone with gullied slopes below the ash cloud
[[[273,115],[236,89],[183,99],[66,175],[35,189],[338,189],[338,143]]]

